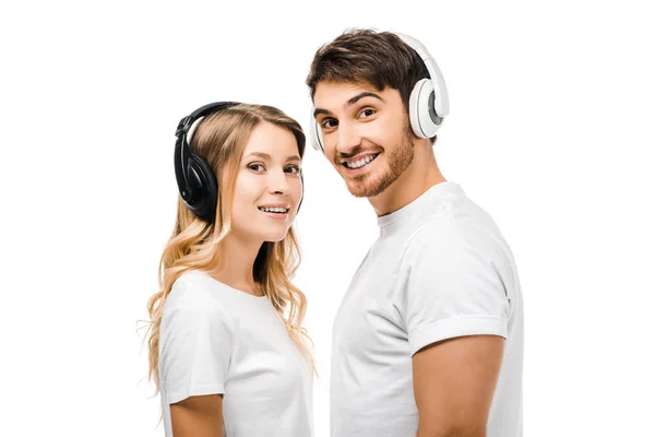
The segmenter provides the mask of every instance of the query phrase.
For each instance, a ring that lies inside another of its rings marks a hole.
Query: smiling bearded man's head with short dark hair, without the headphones
[[[313,116],[326,157],[354,196],[383,192],[412,164],[415,142],[428,143],[413,133],[408,108],[415,85],[430,75],[419,54],[389,32],[349,31],[317,51],[307,78]]]

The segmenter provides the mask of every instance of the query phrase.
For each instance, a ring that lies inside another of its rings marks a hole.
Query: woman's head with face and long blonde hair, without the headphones
[[[160,288],[148,302],[151,376],[158,387],[158,329],[172,283],[187,270],[216,269],[228,235],[260,248],[254,281],[311,361],[301,328],[305,295],[289,281],[299,263],[291,224],[302,197],[300,126],[274,107],[239,104],[204,117],[189,146],[216,176],[216,214],[210,222],[199,218],[178,198],[177,223],[160,260]]]

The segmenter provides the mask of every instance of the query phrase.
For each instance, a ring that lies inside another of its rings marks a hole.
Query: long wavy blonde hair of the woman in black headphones
[[[172,284],[189,270],[211,271],[222,258],[221,241],[231,231],[231,204],[239,162],[254,128],[270,122],[290,131],[298,142],[300,156],[305,154],[305,134],[300,125],[283,111],[271,106],[246,105],[223,109],[205,117],[195,129],[190,149],[202,156],[221,175],[215,223],[198,218],[178,197],[177,220],[170,239],[159,261],[159,290],[147,303],[150,314],[148,379],[159,392],[159,324],[166,297]],[[218,176],[217,176],[218,177]],[[294,343],[306,359],[315,365],[311,340],[302,328],[307,308],[305,294],[289,280],[300,263],[300,251],[294,228],[277,243],[265,241],[257,255],[253,279],[260,284],[286,323]]]

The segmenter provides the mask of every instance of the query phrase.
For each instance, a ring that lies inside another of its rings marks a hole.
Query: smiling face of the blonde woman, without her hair
[[[250,135],[237,173],[233,233],[246,240],[279,241],[302,196],[301,160],[294,134],[261,122]]]

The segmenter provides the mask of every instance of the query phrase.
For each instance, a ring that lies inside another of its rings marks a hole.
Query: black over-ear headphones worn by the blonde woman
[[[211,103],[195,109],[182,118],[175,131],[175,177],[178,190],[187,206],[201,220],[213,223],[216,215],[216,202],[218,199],[218,181],[212,167],[201,156],[192,153],[187,141],[191,127],[198,119],[218,113],[223,109],[239,105],[238,102]],[[300,173],[302,194],[305,194],[305,181]],[[302,197],[298,203],[296,214],[300,211]]]

